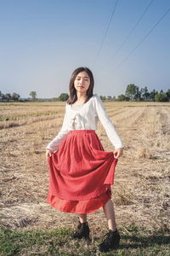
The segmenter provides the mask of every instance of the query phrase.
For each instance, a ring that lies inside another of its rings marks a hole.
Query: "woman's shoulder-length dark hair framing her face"
[[[88,67],[78,67],[71,74],[70,85],[69,85],[70,96],[69,96],[68,101],[67,101],[68,104],[73,104],[74,102],[77,101],[77,90],[74,87],[74,81],[77,77],[77,74],[80,73],[80,72],[83,72],[83,71],[88,73],[88,76],[90,78],[90,85],[89,85],[88,90],[87,90],[88,99],[86,100],[86,102],[88,102],[88,100],[92,96],[94,96],[94,93],[93,93],[93,90],[94,90],[94,75],[93,75],[93,73],[91,72],[91,70]]]

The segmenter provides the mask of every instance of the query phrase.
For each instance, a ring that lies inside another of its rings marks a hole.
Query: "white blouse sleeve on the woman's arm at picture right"
[[[99,96],[95,97],[95,107],[99,120],[104,126],[105,132],[111,143],[115,148],[124,148],[125,145],[122,143],[122,139],[119,137],[115,125],[112,123],[110,117],[106,113],[105,106]]]

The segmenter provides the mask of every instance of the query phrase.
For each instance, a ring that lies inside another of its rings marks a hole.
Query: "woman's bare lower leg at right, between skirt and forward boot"
[[[115,210],[114,210],[113,202],[111,201],[111,199],[106,202],[103,209],[105,212],[105,217],[107,218],[109,230],[116,230]]]

